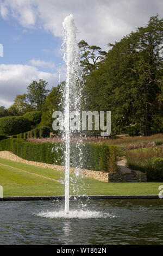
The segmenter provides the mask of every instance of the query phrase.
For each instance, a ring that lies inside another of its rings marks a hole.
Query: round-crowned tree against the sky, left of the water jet
[[[40,111],[45,101],[49,90],[46,89],[48,83],[44,80],[39,80],[39,83],[33,81],[27,87],[27,99],[30,103],[30,106],[35,109],[36,111]]]

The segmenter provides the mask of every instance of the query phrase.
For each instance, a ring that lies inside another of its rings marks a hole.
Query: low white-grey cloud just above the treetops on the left
[[[30,65],[0,65],[0,106],[9,107],[16,94],[27,92],[27,86],[34,80],[43,79],[49,88],[58,84],[58,74],[37,70]]]

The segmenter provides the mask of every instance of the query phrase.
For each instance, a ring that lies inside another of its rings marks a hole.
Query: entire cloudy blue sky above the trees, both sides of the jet
[[[46,80],[49,89],[64,80],[66,16],[74,16],[77,41],[108,51],[109,42],[146,26],[157,13],[162,17],[162,0],[0,0],[0,106],[11,106],[33,80]]]

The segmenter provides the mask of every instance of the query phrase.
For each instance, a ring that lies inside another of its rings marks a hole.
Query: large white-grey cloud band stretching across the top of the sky
[[[105,49],[162,10],[161,0],[4,0],[1,5],[3,17],[10,11],[23,27],[44,28],[55,36],[61,36],[62,22],[72,13],[78,40]]]

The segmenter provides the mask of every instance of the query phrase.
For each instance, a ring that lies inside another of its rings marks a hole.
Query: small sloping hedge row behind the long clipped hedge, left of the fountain
[[[16,137],[12,138],[19,138],[19,139],[27,139],[27,138],[47,138],[49,137],[49,133],[51,132],[51,129],[49,127],[43,126],[40,128],[35,128],[33,130],[30,130],[28,132],[21,132]]]

